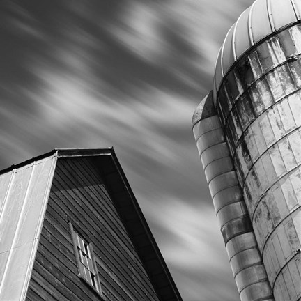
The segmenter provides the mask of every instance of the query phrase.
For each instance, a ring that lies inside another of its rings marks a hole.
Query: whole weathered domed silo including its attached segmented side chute
[[[226,35],[193,132],[241,300],[301,300],[301,1]]]

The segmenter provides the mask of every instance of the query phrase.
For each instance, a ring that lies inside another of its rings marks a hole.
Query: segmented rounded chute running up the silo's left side
[[[242,301],[273,301],[224,130],[211,93],[194,114],[193,132]]]

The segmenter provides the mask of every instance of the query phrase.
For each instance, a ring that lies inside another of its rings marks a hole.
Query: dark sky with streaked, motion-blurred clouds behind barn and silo
[[[239,300],[191,120],[252,1],[0,1],[0,169],[114,146],[185,301]]]

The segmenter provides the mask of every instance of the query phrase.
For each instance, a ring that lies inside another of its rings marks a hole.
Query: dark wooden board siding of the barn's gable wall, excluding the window
[[[85,157],[56,164],[26,300],[102,300],[77,275],[69,222],[93,244],[105,300],[158,300],[102,176]]]

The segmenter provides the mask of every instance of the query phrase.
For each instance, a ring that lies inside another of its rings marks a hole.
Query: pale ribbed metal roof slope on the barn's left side
[[[1,300],[24,300],[55,162],[52,155],[1,175]]]

